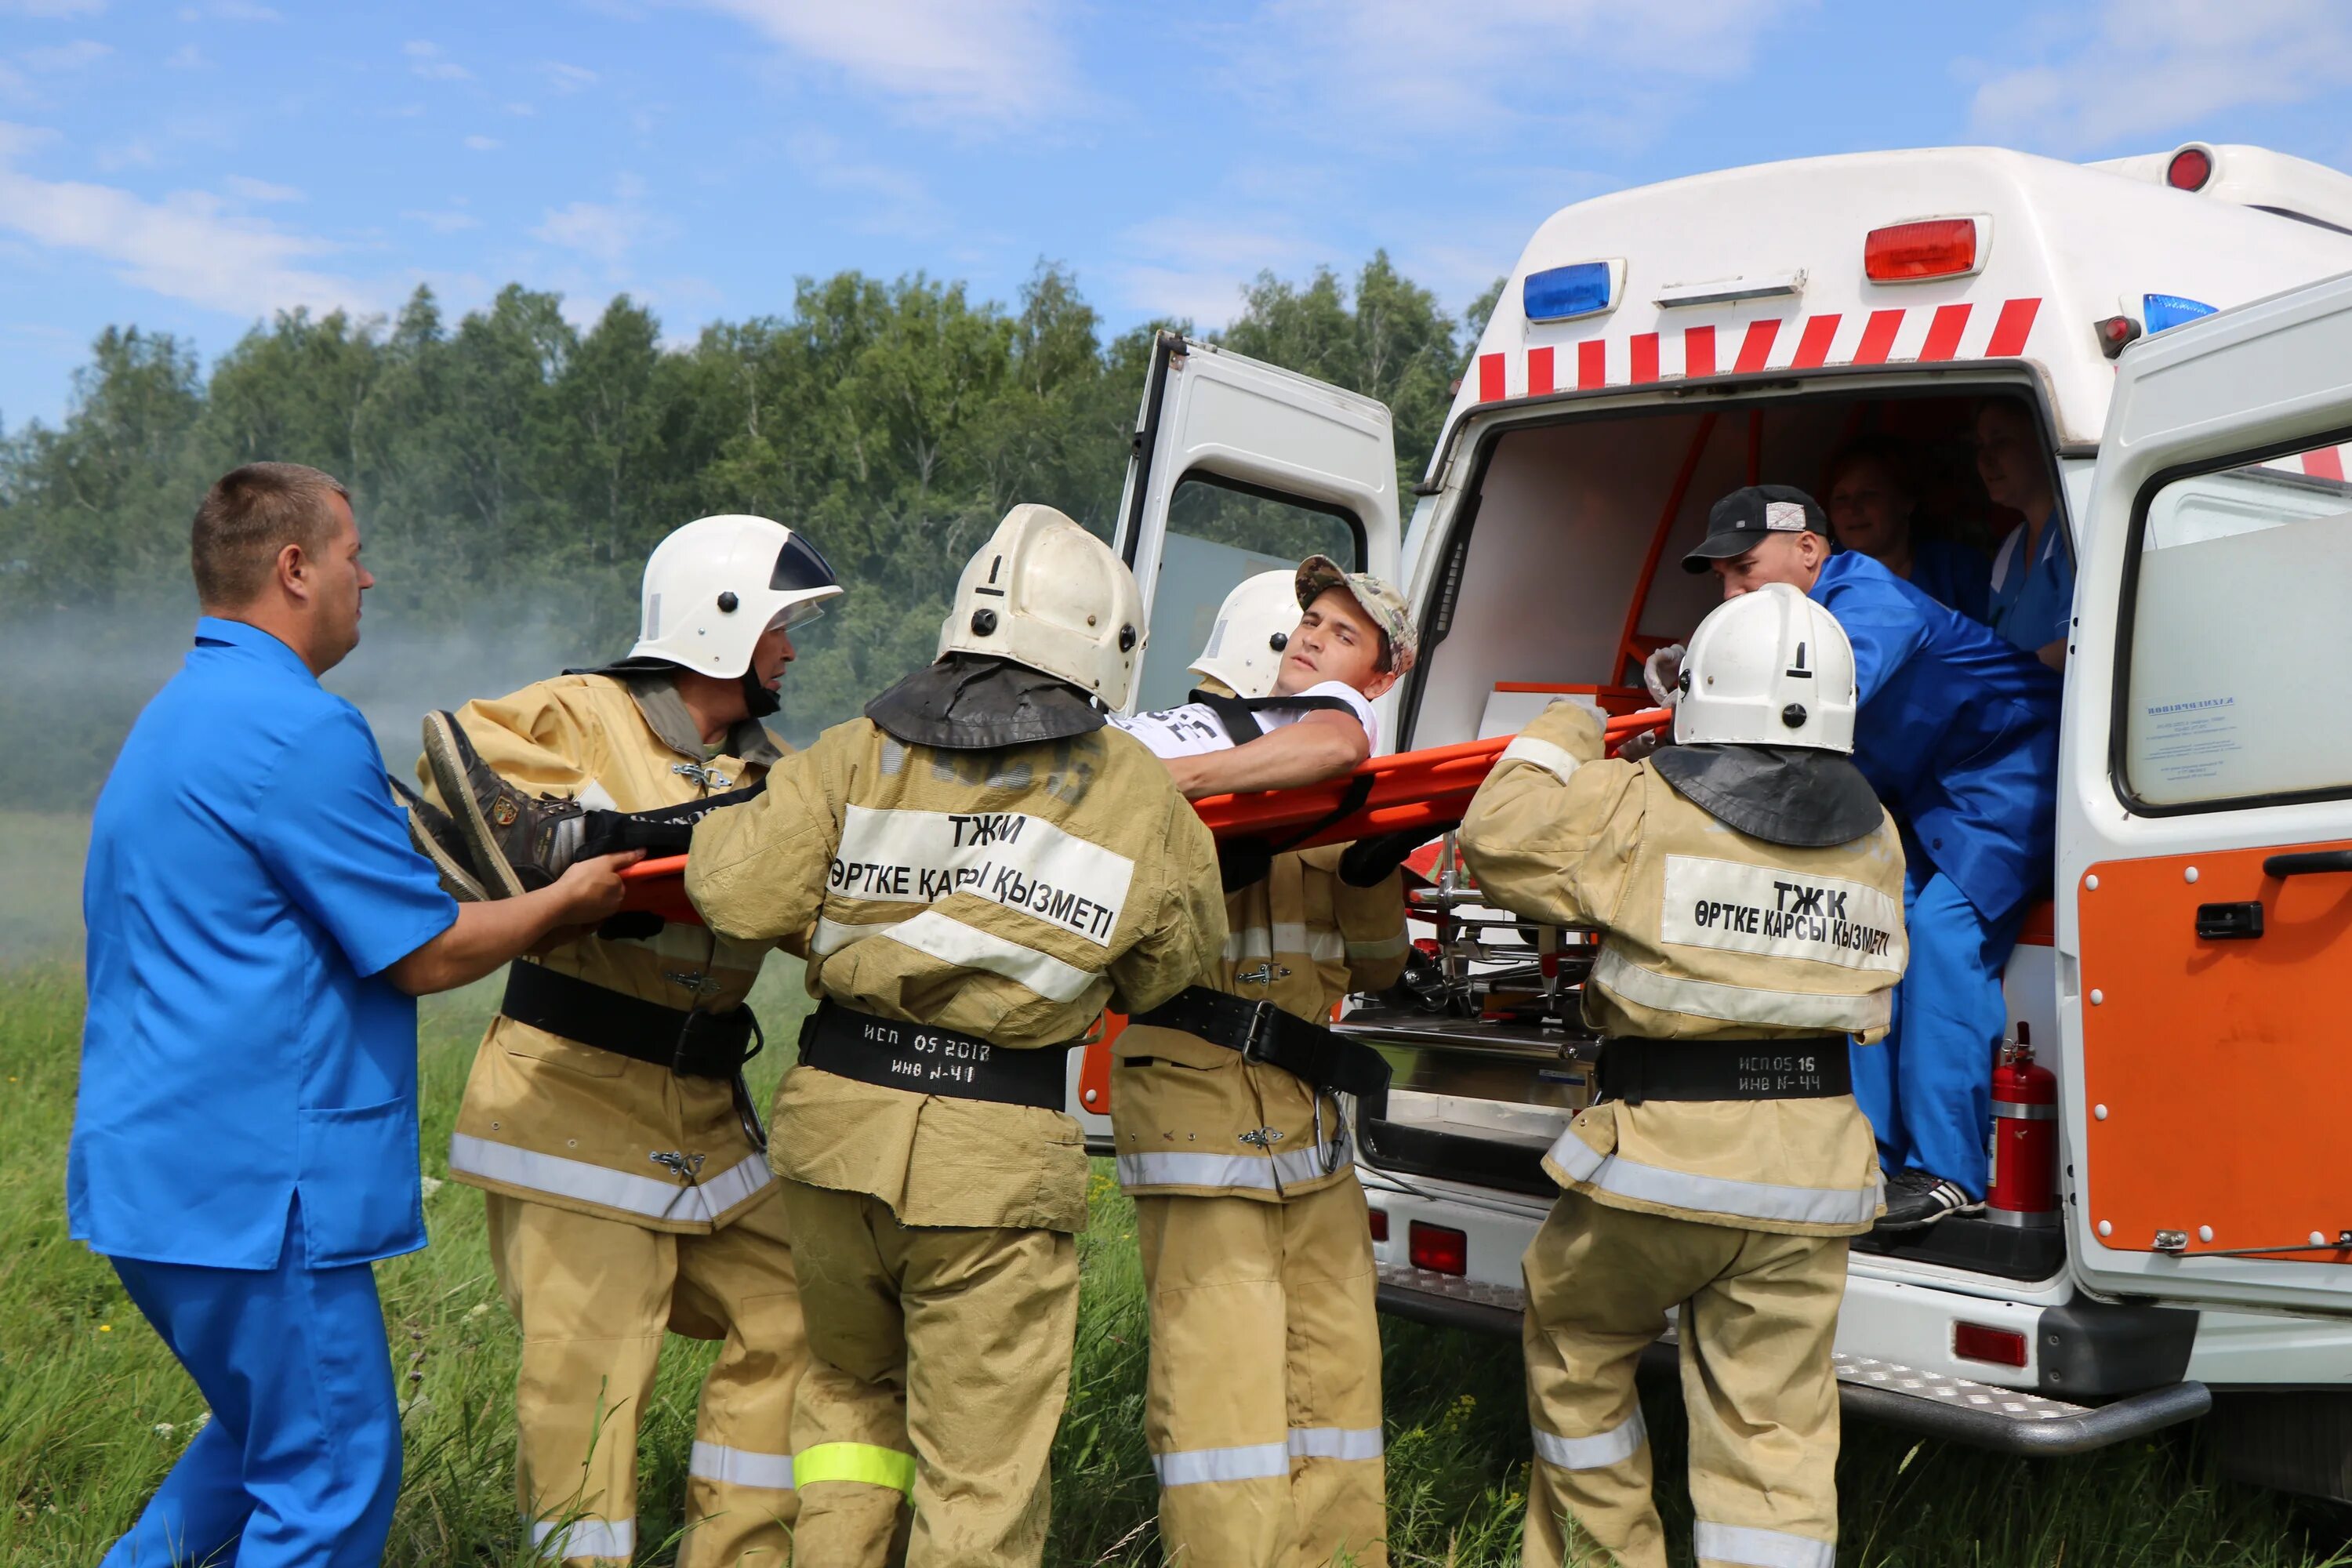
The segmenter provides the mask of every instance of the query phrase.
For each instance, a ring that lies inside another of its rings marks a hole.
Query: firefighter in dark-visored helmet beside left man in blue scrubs
[[[781,748],[790,630],[840,595],[809,541],[703,517],[644,567],[630,656],[426,719],[412,837],[489,896],[553,875],[586,806],[691,818],[741,799]],[[447,809],[442,818],[435,806]],[[454,823],[452,823],[454,818]],[[724,1340],[687,1465],[684,1568],[783,1563],[790,1413],[807,1361],[800,1291],[741,1065],[764,943],[654,917],[508,971],[449,1173],[482,1187],[489,1255],[522,1326],[515,1467],[532,1542],[564,1561],[637,1549],[637,1427],[663,1338]]]

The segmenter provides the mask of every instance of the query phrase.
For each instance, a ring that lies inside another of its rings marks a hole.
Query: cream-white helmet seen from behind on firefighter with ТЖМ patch
[[[964,564],[938,651],[995,654],[1124,708],[1143,595],[1101,538],[1049,505],[1016,505]]]

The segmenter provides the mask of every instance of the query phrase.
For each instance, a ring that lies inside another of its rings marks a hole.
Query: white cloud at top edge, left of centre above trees
[[[1061,0],[684,0],[908,108],[1033,127],[1082,101]]]

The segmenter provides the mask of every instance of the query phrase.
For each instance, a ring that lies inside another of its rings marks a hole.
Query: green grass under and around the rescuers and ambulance
[[[786,1037],[797,976],[774,966],[762,1016]],[[426,1171],[440,1175],[459,1088],[494,992],[423,1009]],[[99,1559],[202,1418],[202,1401],[101,1258],[66,1239],[80,973],[64,959],[0,973],[0,1563]],[[757,1063],[771,1081],[781,1063]],[[1134,1211],[1105,1173],[1084,1237],[1070,1413],[1054,1458],[1049,1561],[1155,1563],[1143,1448],[1143,1300]],[[426,1199],[433,1246],[379,1269],[393,1354],[414,1403],[395,1568],[520,1563],[513,1495],[515,1328],[496,1300],[480,1197]],[[1519,1354],[1508,1340],[1385,1326],[1392,1559],[1517,1561],[1526,1495]],[[642,1432],[644,1561],[677,1530],[694,1389],[710,1347],[673,1340]],[[1689,1540],[1682,1415],[1644,1396],[1677,1561]],[[2279,1497],[2211,1479],[2194,1434],[2077,1460],[2004,1460],[1853,1425],[1839,1465],[1844,1563],[1987,1568],[2286,1568],[2331,1559]],[[675,1547],[673,1547],[675,1549]]]

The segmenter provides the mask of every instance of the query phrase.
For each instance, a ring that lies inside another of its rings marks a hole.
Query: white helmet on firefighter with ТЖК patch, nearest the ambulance
[[[1788,583],[1724,599],[1682,656],[1675,743],[1853,752],[1853,644]]]

